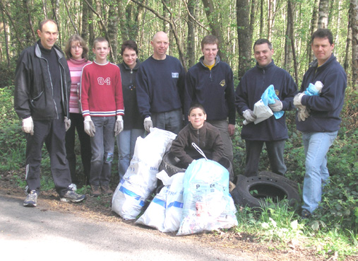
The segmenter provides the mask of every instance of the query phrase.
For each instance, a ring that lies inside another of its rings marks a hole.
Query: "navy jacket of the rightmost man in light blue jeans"
[[[316,81],[323,83],[321,94],[302,97],[301,103],[311,110],[311,115],[304,122],[296,118],[297,129],[301,132],[335,132],[340,129],[347,76],[333,54],[321,66],[314,61],[304,74],[301,92],[306,91],[309,83]]]

